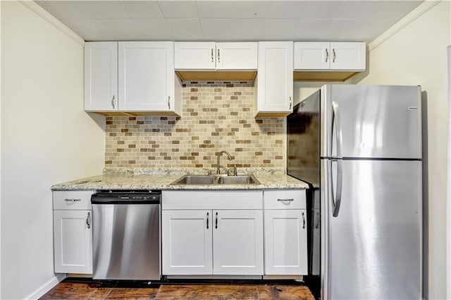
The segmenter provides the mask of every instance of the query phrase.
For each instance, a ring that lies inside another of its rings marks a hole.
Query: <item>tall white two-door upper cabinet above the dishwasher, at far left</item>
[[[87,42],[85,110],[181,114],[173,42]]]

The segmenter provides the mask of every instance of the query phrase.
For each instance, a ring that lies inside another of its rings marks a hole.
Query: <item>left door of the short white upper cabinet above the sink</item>
[[[214,70],[216,67],[215,42],[175,42],[176,70]]]

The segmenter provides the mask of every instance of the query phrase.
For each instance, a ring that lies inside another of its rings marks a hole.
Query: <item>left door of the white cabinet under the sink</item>
[[[163,210],[163,275],[212,275],[211,210]]]

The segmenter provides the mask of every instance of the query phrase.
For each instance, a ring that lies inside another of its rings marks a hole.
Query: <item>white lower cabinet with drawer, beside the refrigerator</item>
[[[307,275],[305,190],[264,192],[265,275]]]

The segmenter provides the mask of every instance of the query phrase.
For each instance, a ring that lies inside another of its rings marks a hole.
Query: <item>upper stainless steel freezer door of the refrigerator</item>
[[[418,86],[324,85],[322,157],[421,158]]]

